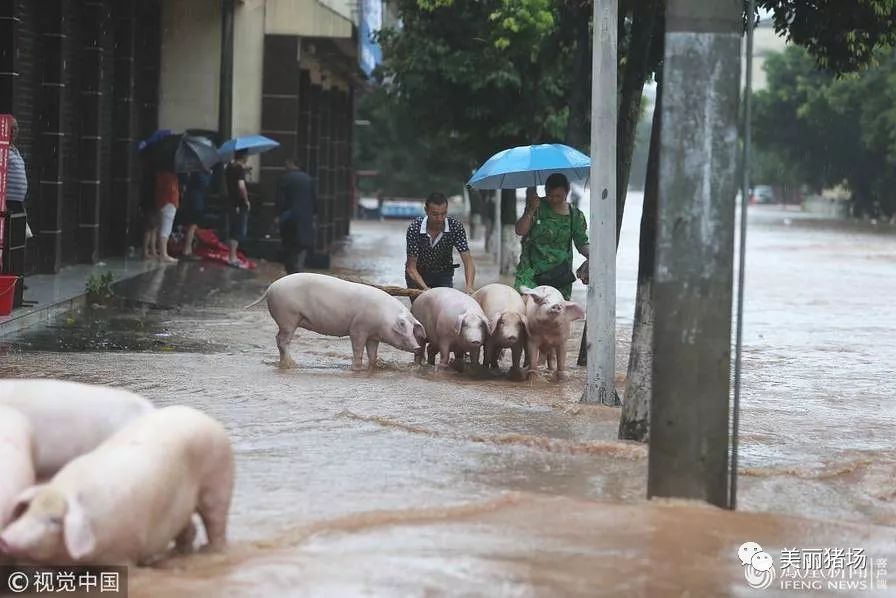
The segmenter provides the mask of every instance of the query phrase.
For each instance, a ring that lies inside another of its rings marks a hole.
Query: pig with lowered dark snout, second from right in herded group
[[[518,373],[520,356],[526,346],[526,305],[522,296],[513,287],[494,283],[473,293],[473,299],[488,318],[485,365],[497,368],[501,350],[510,349],[511,373]]]

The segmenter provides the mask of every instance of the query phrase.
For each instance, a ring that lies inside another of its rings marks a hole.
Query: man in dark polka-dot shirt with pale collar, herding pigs
[[[426,198],[426,216],[411,221],[407,231],[405,282],[410,289],[454,286],[454,249],[464,263],[465,290],[472,293],[476,267],[459,220],[448,216],[448,200],[441,193]]]

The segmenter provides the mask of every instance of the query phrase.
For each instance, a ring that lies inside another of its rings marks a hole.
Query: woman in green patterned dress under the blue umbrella
[[[588,257],[588,233],[585,215],[566,198],[569,180],[554,173],[545,181],[545,195],[534,188],[527,191],[526,210],[516,223],[516,234],[523,237],[514,288],[554,287],[569,300],[576,278],[587,282],[588,262],[577,273],[572,271],[572,245]]]

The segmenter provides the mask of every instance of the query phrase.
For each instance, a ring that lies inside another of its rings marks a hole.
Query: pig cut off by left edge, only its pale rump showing
[[[12,516],[16,497],[34,485],[34,457],[31,422],[15,409],[0,406],[0,530]]]

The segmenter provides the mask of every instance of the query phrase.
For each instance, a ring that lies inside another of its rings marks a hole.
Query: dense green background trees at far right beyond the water
[[[753,130],[765,160],[779,163],[771,182],[816,189],[844,183],[859,211],[893,213],[896,53],[878,52],[875,62],[836,77],[802,48],[769,57],[769,87],[754,95]]]

